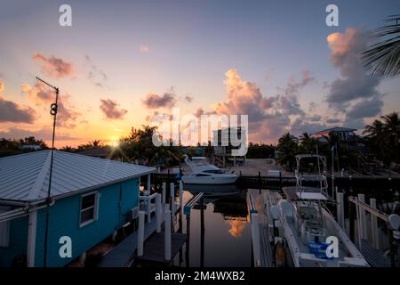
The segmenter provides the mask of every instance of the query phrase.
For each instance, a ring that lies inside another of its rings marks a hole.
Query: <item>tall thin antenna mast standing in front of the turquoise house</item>
[[[54,137],[55,137],[55,126],[56,126],[56,119],[57,119],[57,109],[58,109],[58,101],[59,101],[59,94],[60,94],[60,89],[56,86],[50,85],[46,81],[44,81],[42,78],[36,77],[36,80],[44,83],[45,85],[48,85],[52,89],[54,89],[56,93],[56,98],[55,102],[50,105],[50,114],[52,114],[52,156],[50,158],[50,174],[49,174],[49,188],[47,190],[47,199],[46,199],[46,224],[45,224],[45,234],[44,234],[44,267],[47,265],[47,243],[48,243],[48,235],[49,235],[49,212],[50,212],[50,205],[52,203],[51,199],[51,191],[52,191],[52,159],[54,157]]]

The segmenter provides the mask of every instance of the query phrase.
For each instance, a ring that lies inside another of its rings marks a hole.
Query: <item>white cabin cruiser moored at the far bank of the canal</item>
[[[226,173],[219,167],[216,167],[207,162],[207,159],[192,158],[185,159],[186,164],[192,170],[192,173],[183,175],[182,182],[185,184],[202,184],[202,185],[217,185],[217,184],[233,184],[236,183],[238,175]]]

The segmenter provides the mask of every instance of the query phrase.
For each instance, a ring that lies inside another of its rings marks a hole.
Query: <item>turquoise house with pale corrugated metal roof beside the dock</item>
[[[0,159],[0,266],[44,265],[51,151]],[[139,177],[154,167],[54,151],[47,265],[63,266],[106,239],[139,205]],[[60,256],[60,238],[72,256]]]

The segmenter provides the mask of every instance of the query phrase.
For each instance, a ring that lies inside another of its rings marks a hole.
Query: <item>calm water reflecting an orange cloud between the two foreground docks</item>
[[[204,266],[251,266],[252,237],[247,191],[234,185],[185,185],[184,202],[199,191],[204,192],[204,247],[201,242],[201,209],[196,206],[190,219],[189,265],[201,265],[203,249]],[[183,219],[183,232],[186,232],[186,218]],[[174,265],[187,265],[186,249],[182,248],[182,258],[176,256]]]

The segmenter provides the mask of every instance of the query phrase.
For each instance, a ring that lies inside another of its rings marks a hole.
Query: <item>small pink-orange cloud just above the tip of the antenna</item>
[[[32,59],[41,64],[41,72],[48,77],[62,78],[75,75],[75,66],[73,63],[63,61],[60,58],[51,56],[45,57],[41,53],[34,53]]]

